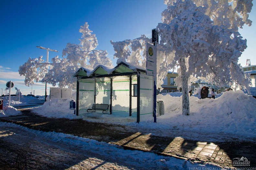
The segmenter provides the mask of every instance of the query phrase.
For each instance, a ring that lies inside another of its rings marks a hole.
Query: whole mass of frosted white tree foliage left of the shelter
[[[112,66],[112,61],[107,57],[105,50],[96,50],[98,40],[95,34],[91,34],[89,25],[85,23],[79,30],[82,33],[80,44],[68,43],[62,51],[62,58],[56,56],[52,63],[44,63],[42,56],[39,59],[29,59],[20,66],[19,74],[25,76],[25,84],[28,86],[34,81],[47,82],[59,87],[76,87],[76,78],[73,77],[80,67],[95,68],[99,64]]]

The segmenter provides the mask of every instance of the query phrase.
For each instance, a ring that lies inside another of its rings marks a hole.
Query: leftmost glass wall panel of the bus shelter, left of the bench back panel
[[[95,80],[79,80],[79,114],[92,107],[95,94]]]

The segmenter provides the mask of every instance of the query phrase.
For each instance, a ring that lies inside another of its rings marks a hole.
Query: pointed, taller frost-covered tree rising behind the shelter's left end
[[[50,82],[53,86],[76,87],[76,78],[73,74],[80,67],[95,68],[99,64],[112,66],[112,61],[107,57],[105,50],[96,50],[98,40],[91,34],[89,25],[85,23],[79,30],[82,33],[80,44],[68,43],[62,51],[62,59],[58,56],[52,59],[53,67],[48,71],[42,82]],[[66,56],[66,58],[64,58]],[[90,63],[90,64],[89,64]]]

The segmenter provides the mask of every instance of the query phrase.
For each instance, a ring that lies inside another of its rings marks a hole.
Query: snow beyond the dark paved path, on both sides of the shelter
[[[252,94],[253,92],[255,93],[256,88],[251,88],[251,91]],[[75,99],[75,96],[72,98]],[[84,119],[94,122],[121,124],[133,128],[146,129],[148,133],[162,136],[170,135],[168,131],[172,130],[176,131],[177,134],[200,133],[216,139],[223,139],[220,136],[235,137],[241,140],[255,140],[256,138],[256,99],[241,90],[236,92],[233,90],[226,91],[221,93],[216,99],[198,99],[191,96],[189,98],[189,116],[182,115],[181,93],[159,94],[157,99],[163,100],[165,106],[165,114],[157,117],[157,123],[153,122],[153,116],[145,121],[140,121],[139,124],[136,123],[136,118],[129,117],[128,115],[127,117],[121,117],[92,112],[75,116],[73,114],[74,110],[69,109],[69,101],[71,99],[63,102],[52,100],[49,103],[47,101],[42,107],[32,110],[46,117]],[[6,107],[4,107],[0,117],[20,114],[16,109]]]

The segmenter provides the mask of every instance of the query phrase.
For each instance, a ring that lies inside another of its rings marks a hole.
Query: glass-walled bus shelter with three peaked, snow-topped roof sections
[[[110,114],[137,117],[137,122],[154,111],[153,76],[145,69],[120,62],[114,68],[80,68],[77,77],[76,115],[87,113],[94,103],[109,104]]]

